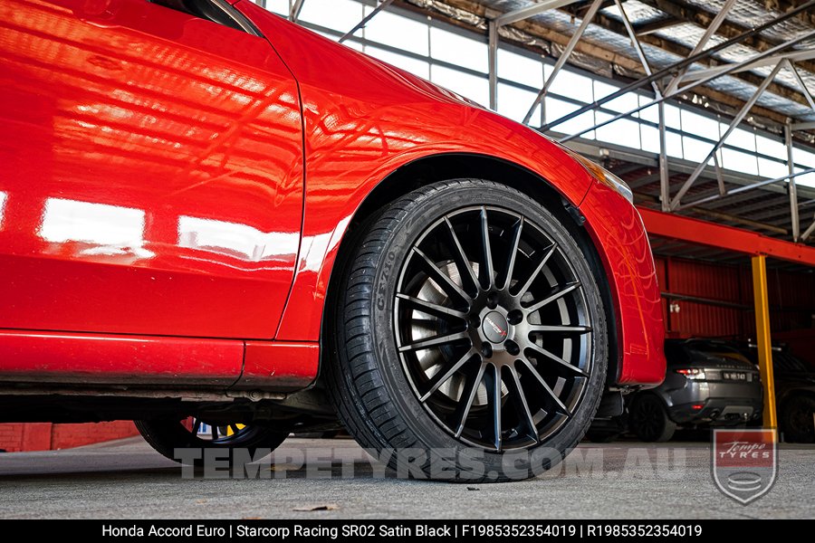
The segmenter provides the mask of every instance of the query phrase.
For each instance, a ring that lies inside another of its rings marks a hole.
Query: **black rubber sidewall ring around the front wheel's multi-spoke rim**
[[[485,473],[481,475],[486,479],[525,479],[540,474],[559,462],[580,441],[590,426],[605,384],[608,357],[605,313],[599,289],[585,256],[568,230],[542,205],[522,193],[492,183],[478,180],[455,180],[453,183],[454,186],[448,185],[440,189],[438,194],[423,193],[413,205],[408,205],[393,220],[396,224],[388,236],[384,250],[379,254],[370,300],[370,329],[376,353],[375,363],[383,376],[383,383],[393,405],[420,443],[437,447],[444,454],[455,451],[457,456],[483,462]],[[580,281],[585,285],[586,305],[593,327],[590,381],[571,420],[544,443],[526,451],[485,452],[467,447],[447,433],[419,403],[396,348],[394,299],[399,274],[410,249],[419,236],[443,214],[474,205],[504,208],[509,212],[521,213],[526,219],[532,219],[534,224],[560,245],[561,251],[569,258]],[[431,451],[430,456],[433,458],[437,454]],[[468,463],[474,465],[472,462]],[[465,478],[467,473],[460,472],[458,475]],[[476,475],[477,473],[473,473],[474,477]]]

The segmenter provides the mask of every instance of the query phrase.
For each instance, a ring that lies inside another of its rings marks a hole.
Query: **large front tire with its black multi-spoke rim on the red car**
[[[357,441],[416,478],[521,480],[560,462],[597,412],[608,356],[599,288],[567,227],[518,191],[455,179],[357,235],[326,368]]]

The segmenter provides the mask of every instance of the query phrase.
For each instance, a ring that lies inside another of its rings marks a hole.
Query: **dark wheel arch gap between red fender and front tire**
[[[583,217],[578,209],[571,205],[543,176],[532,170],[496,157],[470,153],[446,153],[421,157],[398,167],[384,177],[377,186],[363,199],[353,214],[346,231],[343,233],[337,252],[337,257],[331,269],[331,279],[326,292],[325,308],[334,307],[337,302],[340,282],[340,270],[348,262],[354,245],[357,242],[356,233],[367,221],[376,217],[378,211],[400,196],[407,195],[422,186],[431,185],[436,181],[445,179],[474,177],[494,181],[510,186],[540,203],[551,214],[554,214],[580,246],[580,250],[590,263],[590,268],[597,281],[600,296],[606,311],[606,321],[609,323],[609,360],[606,374],[606,385],[616,383],[618,371],[622,364],[618,348],[618,321],[615,317],[616,304],[612,299],[609,279],[599,257],[598,248],[591,241],[589,233],[582,227]],[[580,202],[576,203],[580,205]],[[321,344],[331,345],[327,341],[327,334],[331,330],[331,311],[323,310],[321,323]],[[332,356],[331,349],[321,349],[321,367],[326,357]],[[613,353],[613,354],[612,354]]]

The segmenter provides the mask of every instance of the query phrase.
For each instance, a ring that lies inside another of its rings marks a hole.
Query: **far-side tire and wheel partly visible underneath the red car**
[[[161,453],[168,459],[179,463],[192,463],[196,466],[204,464],[204,449],[223,449],[229,451],[229,465],[235,461],[235,449],[245,449],[250,456],[254,459],[255,452],[258,449],[269,449],[273,451],[283,443],[288,437],[288,432],[266,428],[264,426],[256,425],[230,425],[234,428],[234,433],[229,436],[216,437],[218,430],[216,426],[216,433],[213,434],[212,439],[202,439],[197,434],[197,424],[199,421],[193,419],[195,422],[192,427],[187,427],[185,421],[177,419],[150,419],[143,421],[134,421],[136,428],[144,440],[149,443],[153,449]],[[195,432],[193,430],[196,430]],[[223,433],[223,431],[221,431]],[[201,458],[193,460],[193,462],[184,462],[174,452],[175,449],[201,449]],[[223,461],[220,456],[219,461]],[[256,459],[255,459],[256,460]]]

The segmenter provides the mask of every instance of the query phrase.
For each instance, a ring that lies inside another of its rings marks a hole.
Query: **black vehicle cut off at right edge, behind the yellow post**
[[[758,364],[755,345],[740,345],[745,357]],[[772,374],[778,431],[788,443],[815,443],[815,372],[789,349],[772,348]]]

